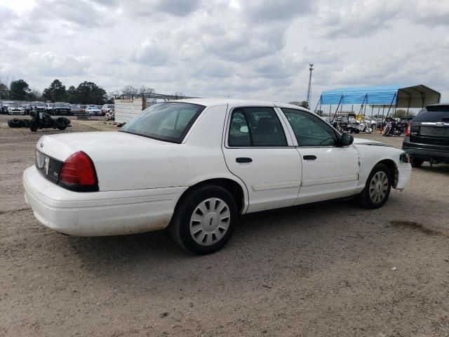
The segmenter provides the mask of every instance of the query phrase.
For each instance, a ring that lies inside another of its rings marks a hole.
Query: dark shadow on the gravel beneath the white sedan
[[[167,230],[119,237],[66,237],[67,253],[79,259],[81,272],[106,283],[133,279],[142,286],[151,283],[154,288],[154,284],[165,283],[166,288],[171,284],[176,289],[180,284],[203,284],[211,268],[219,268],[214,271],[215,284],[229,277],[238,284],[248,282],[247,277],[263,282],[274,265],[285,265],[286,261],[306,272],[316,247],[335,240],[335,226],[341,236],[360,240],[354,222],[346,220],[360,212],[348,202],[329,201],[242,216],[227,246],[208,256],[194,256],[180,249]],[[371,221],[370,216],[366,219]],[[320,263],[331,261],[329,258]]]

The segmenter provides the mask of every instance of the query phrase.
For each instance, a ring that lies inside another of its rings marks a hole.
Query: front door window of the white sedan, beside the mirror
[[[282,108],[299,146],[335,146],[335,131],[325,121],[302,110]]]

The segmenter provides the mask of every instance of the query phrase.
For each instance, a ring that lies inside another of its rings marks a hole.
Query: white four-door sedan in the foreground
[[[341,135],[296,105],[192,99],[152,105],[119,132],[43,136],[23,184],[57,232],[169,227],[187,251],[211,253],[239,214],[352,197],[375,209],[410,171],[402,150]]]

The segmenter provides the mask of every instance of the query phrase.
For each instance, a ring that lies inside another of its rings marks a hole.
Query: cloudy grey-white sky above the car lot
[[[1,0],[0,79],[304,100],[425,84],[449,100],[449,1]]]

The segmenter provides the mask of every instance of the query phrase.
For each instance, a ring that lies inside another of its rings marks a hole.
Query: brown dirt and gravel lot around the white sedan
[[[375,211],[244,216],[197,257],[165,231],[46,230],[21,183],[44,133],[0,128],[0,336],[449,336],[449,166],[413,169]]]

